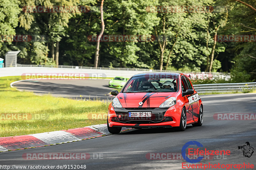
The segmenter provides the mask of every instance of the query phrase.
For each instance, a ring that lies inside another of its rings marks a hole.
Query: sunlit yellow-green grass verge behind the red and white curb
[[[101,101],[71,100],[51,95],[38,96],[33,92],[19,92],[10,83],[20,76],[0,78],[0,137],[65,130],[106,123],[106,120],[89,120],[89,113],[107,113],[108,104]],[[3,120],[6,113],[37,114],[39,120]]]

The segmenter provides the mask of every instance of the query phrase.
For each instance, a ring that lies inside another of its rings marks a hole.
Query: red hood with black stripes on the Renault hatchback
[[[169,97],[177,92],[138,92],[119,93],[118,100],[123,107],[159,107]],[[140,106],[139,103],[143,102]]]

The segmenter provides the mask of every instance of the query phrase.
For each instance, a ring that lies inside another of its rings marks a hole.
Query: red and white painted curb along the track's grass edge
[[[122,131],[131,128],[122,128]],[[0,152],[81,141],[109,135],[107,124],[14,137],[0,137]]]

